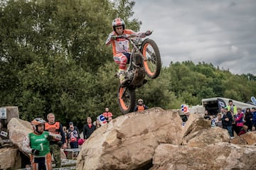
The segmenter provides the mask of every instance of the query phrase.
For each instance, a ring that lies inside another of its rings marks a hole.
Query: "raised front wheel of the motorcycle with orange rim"
[[[146,75],[150,79],[156,79],[156,77],[159,77],[161,71],[161,56],[156,42],[151,39],[144,40],[142,43],[142,54]]]

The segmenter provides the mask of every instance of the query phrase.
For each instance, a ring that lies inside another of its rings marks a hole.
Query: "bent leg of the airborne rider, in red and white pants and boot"
[[[125,82],[125,69],[126,69],[126,64],[127,64],[127,57],[126,55],[122,53],[118,53],[117,55],[114,55],[114,62],[119,64],[119,79],[120,79],[120,84],[123,84]]]

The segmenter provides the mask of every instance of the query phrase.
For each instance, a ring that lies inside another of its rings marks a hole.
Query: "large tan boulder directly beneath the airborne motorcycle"
[[[160,143],[181,145],[178,112],[151,108],[103,125],[80,151],[76,169],[148,169]]]

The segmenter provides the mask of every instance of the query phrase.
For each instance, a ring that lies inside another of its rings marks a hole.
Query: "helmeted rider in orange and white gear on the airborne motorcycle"
[[[125,29],[125,23],[122,18],[115,18],[114,21],[112,21],[112,28],[113,31],[110,33],[105,43],[106,45],[112,44],[114,62],[119,64],[119,72],[117,75],[119,75],[120,84],[124,84],[126,81],[124,71],[131,55],[129,50],[129,40],[126,38],[117,39],[116,36],[132,34],[144,38],[146,35],[150,35],[151,31],[147,30],[146,33],[136,33],[134,30]]]

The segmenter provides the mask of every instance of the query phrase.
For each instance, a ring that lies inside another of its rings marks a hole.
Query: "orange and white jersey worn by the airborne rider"
[[[125,34],[132,34],[132,35],[140,35],[141,33],[136,33],[133,30],[124,30],[123,35]],[[117,33],[112,31],[110,35],[108,36],[106,40],[106,45],[112,44],[112,52],[114,55],[117,55],[117,53],[123,53],[123,52],[130,52],[129,51],[129,40],[126,38],[118,38],[117,40],[112,40],[112,36],[117,36]]]

